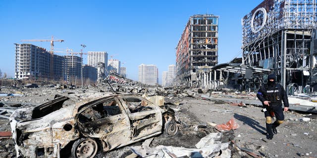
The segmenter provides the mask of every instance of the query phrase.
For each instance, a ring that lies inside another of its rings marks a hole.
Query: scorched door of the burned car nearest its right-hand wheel
[[[162,115],[158,106],[138,96],[120,98],[130,118],[132,140],[137,140],[162,130]]]

